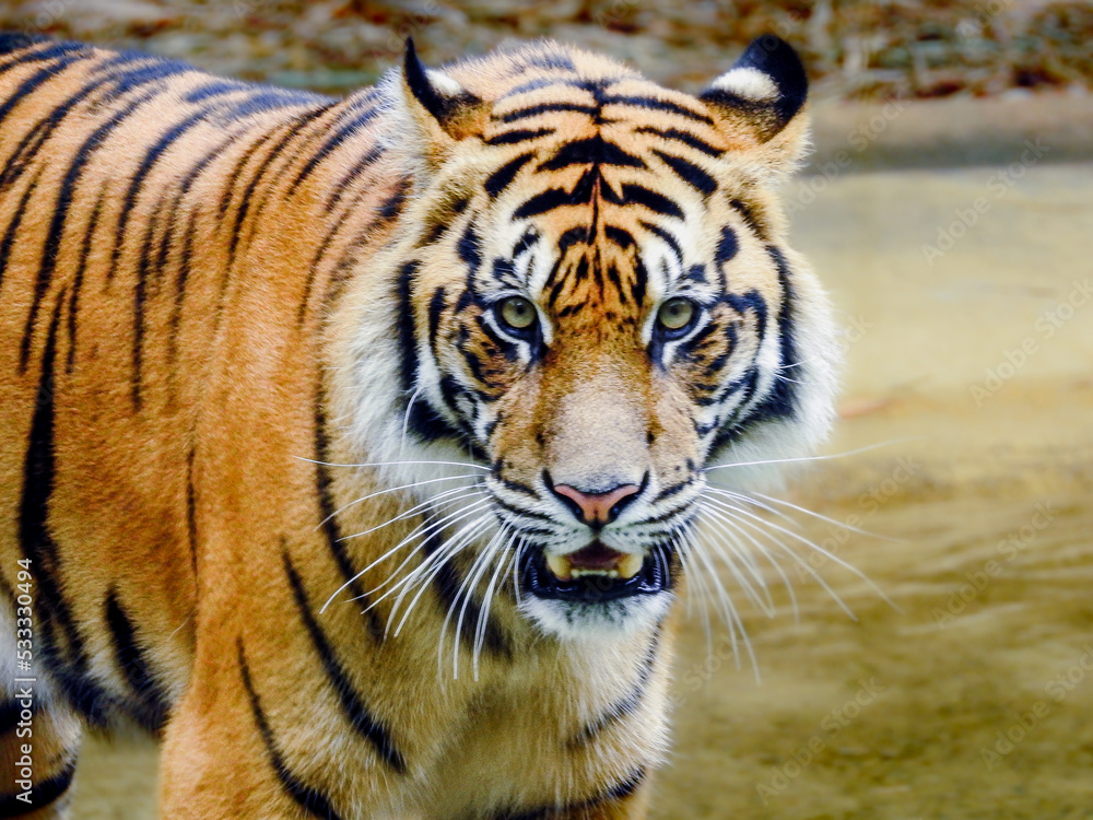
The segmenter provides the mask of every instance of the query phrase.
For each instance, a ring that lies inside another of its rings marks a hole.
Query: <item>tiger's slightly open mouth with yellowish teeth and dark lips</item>
[[[527,550],[521,586],[538,598],[598,604],[655,595],[671,585],[670,548],[657,544],[645,555],[619,552],[599,541],[567,555]]]

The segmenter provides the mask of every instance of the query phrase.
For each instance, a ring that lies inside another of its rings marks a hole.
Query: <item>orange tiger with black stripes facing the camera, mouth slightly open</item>
[[[773,35],[331,98],[4,34],[0,813],[137,726],[173,820],[647,817],[709,471],[834,419],[807,92]]]

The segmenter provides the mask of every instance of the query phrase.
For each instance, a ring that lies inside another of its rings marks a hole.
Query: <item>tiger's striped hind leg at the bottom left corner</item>
[[[43,689],[40,679],[0,687],[0,817],[69,817],[83,722]]]

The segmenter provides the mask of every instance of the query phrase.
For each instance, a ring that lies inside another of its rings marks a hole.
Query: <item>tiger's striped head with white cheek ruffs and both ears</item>
[[[830,308],[772,190],[806,148],[801,63],[764,37],[692,96],[549,43],[445,72],[410,45],[384,91],[413,191],[386,324],[356,331],[357,435],[423,500],[461,469],[437,462],[484,468],[472,582],[507,555],[546,632],[648,625],[706,469],[765,481],[833,417]]]

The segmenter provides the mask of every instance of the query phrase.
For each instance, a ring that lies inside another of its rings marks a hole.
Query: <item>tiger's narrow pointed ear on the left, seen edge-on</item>
[[[481,133],[490,106],[443,71],[425,68],[407,37],[402,97],[430,153],[443,155],[454,141]]]

